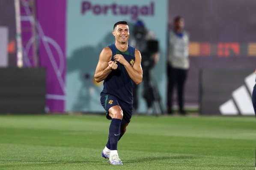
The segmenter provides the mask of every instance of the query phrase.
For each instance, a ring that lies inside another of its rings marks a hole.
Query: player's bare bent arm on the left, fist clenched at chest
[[[99,61],[96,66],[94,79],[96,82],[101,82],[113,69],[117,68],[117,64],[111,61],[112,51],[109,47],[105,47],[99,56]]]

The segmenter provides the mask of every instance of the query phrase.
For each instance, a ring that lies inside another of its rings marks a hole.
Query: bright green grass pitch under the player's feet
[[[0,115],[0,170],[253,170],[256,118],[135,115],[122,166],[101,158],[104,115]]]

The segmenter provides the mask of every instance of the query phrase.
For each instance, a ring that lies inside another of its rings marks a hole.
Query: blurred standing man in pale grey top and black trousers
[[[174,28],[169,31],[167,57],[167,112],[173,113],[173,91],[177,87],[179,113],[185,115],[184,86],[189,69],[189,34],[184,30],[183,17],[174,18]]]

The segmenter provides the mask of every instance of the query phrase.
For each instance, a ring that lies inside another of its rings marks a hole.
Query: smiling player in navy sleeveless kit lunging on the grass
[[[117,153],[117,143],[126,132],[133,111],[133,84],[143,77],[140,51],[128,45],[130,35],[126,21],[114,24],[115,43],[102,49],[95,69],[95,81],[103,82],[101,105],[110,119],[108,141],[101,156],[110,164],[122,165]]]

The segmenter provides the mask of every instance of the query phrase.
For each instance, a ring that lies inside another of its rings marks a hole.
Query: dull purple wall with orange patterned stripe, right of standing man
[[[169,0],[170,28],[176,15],[183,16],[193,43],[187,105],[199,104],[200,69],[255,70],[255,8],[255,0]]]

